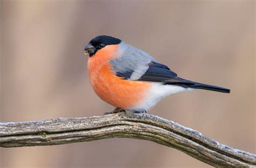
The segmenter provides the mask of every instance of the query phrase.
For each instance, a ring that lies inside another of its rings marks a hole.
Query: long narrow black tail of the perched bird
[[[179,78],[181,79],[181,78]],[[178,85],[178,86],[182,86],[182,87],[188,87],[188,88],[196,88],[196,89],[204,89],[204,90],[211,90],[211,91],[215,91],[215,92],[222,92],[222,93],[230,93],[230,89],[226,89],[223,87],[218,87],[218,86],[212,86],[212,85],[206,85],[203,83],[198,83],[198,82],[193,82],[193,81],[189,81],[186,79],[181,79],[184,81],[184,83],[170,83],[170,84],[174,84],[174,85]]]

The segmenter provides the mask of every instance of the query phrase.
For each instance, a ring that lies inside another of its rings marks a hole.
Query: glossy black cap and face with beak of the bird
[[[93,38],[89,44],[84,48],[84,51],[90,54],[90,57],[94,55],[98,50],[104,48],[107,45],[120,44],[121,40],[111,36],[97,36]]]

